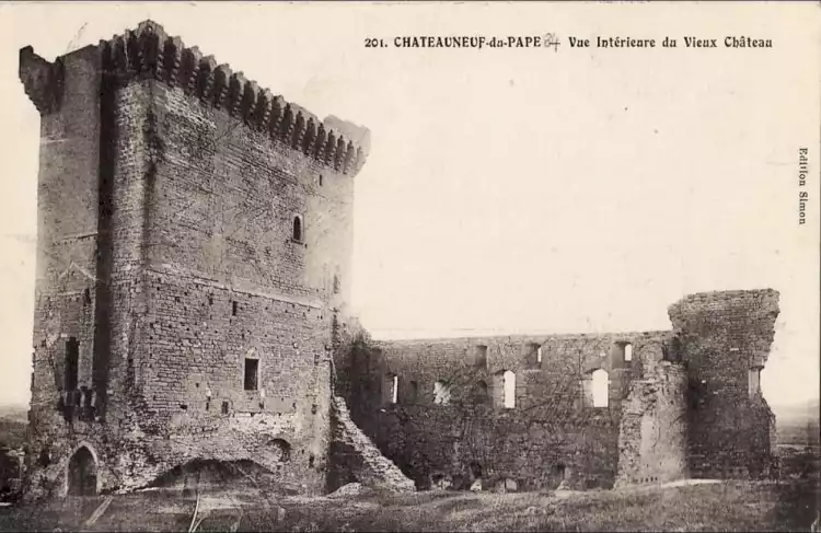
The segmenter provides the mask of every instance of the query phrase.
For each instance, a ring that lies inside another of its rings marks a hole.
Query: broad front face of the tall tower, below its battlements
[[[277,429],[259,438],[288,442],[293,455],[284,468],[319,491],[329,432],[333,280],[316,271],[342,262],[335,254],[350,225],[349,206],[339,205],[350,186],[326,173],[320,196],[315,167],[294,165],[269,140],[250,142],[245,128],[181,90],[155,81],[126,90],[149,102],[143,128],[161,147],[147,199],[148,305],[137,326],[144,351],[136,350],[134,368],[149,406],[142,427],[183,441],[197,434],[199,449],[210,451],[187,451],[192,456],[254,459],[212,419],[271,414]],[[319,199],[307,200],[311,195]],[[304,242],[291,239],[294,213]],[[326,239],[337,244],[325,246]],[[254,391],[243,390],[246,358],[258,361]],[[176,450],[165,454],[169,466],[181,461],[171,459]]]

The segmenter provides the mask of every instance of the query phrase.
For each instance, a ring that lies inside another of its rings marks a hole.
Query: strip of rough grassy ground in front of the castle
[[[810,482],[720,483],[570,494],[470,494],[200,499],[197,531],[809,531],[819,493]],[[2,531],[188,531],[195,498],[167,493],[0,510]]]

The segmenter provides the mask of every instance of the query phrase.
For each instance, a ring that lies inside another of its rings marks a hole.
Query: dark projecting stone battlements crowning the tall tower
[[[294,103],[259,88],[242,72],[219,65],[196,46],[186,47],[153,21],[101,40],[104,81],[126,85],[157,80],[180,88],[203,104],[222,109],[247,127],[344,174],[356,174],[365,164],[370,144],[367,128],[328,117],[320,120]],[[81,51],[81,50],[78,50]],[[63,57],[49,62],[31,46],[20,50],[20,79],[41,114],[59,111],[63,97]]]

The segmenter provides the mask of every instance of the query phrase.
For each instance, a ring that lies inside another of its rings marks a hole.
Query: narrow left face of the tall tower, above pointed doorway
[[[24,48],[20,74],[43,114],[26,489],[61,494],[68,457],[79,445],[113,452],[100,438],[93,408],[85,408],[86,398],[92,407],[97,403],[90,391],[99,362],[100,55],[86,47],[47,63]],[[78,372],[68,390],[72,340]],[[100,477],[107,474],[101,470]]]

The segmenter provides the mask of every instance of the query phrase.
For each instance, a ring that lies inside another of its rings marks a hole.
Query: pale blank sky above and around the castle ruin
[[[19,49],[53,60],[144,19],[320,117],[370,128],[354,306],[374,336],[667,329],[684,294],[771,287],[782,314],[765,396],[818,396],[817,4],[32,2],[0,4],[0,403],[27,401],[32,352],[39,118]],[[558,51],[365,47],[546,33]],[[679,48],[567,42],[597,35]],[[689,35],[719,47],[687,49]],[[727,49],[726,35],[775,46]]]

